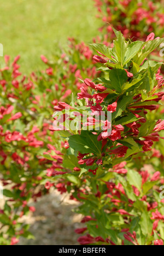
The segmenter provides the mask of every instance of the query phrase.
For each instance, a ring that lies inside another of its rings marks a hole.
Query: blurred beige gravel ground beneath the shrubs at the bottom
[[[74,229],[81,228],[82,216],[72,210],[78,203],[56,191],[34,204],[36,212],[25,217],[35,240],[21,238],[19,245],[79,245]]]

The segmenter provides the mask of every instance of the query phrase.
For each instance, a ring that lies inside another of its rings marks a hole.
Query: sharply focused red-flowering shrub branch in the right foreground
[[[82,116],[83,110],[92,113],[86,125],[81,123],[82,128],[72,135],[66,129],[61,131],[68,140],[62,151],[67,170],[60,173],[59,181],[52,167],[45,182],[50,187],[57,180],[58,191],[68,191],[72,199],[82,202],[79,212],[85,216],[81,221],[85,227],[76,230],[86,233],[79,237],[81,245],[163,245],[163,156],[154,143],[162,139],[164,125],[149,117],[162,99],[164,80],[159,75],[162,63],[147,59],[163,39],[149,37],[145,43],[131,43],[114,32],[117,39],[112,49],[92,45],[98,53],[93,59],[102,63],[99,70],[104,75],[93,81],[85,79],[90,92],[80,88],[78,100],[71,106],[58,104],[60,112],[54,118],[63,127],[77,113]],[[97,131],[101,110],[112,113],[112,123],[106,120]],[[93,130],[83,129],[91,124]],[[112,133],[108,133],[110,125]],[[159,157],[162,168],[156,171]]]

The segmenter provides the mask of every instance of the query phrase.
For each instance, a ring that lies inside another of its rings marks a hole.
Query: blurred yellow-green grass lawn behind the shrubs
[[[68,37],[85,43],[97,36],[99,21],[93,0],[0,0],[0,43],[4,55],[21,55],[21,71],[43,67],[40,55],[51,56]]]

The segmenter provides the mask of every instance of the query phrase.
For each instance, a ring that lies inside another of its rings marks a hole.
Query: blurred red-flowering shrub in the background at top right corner
[[[106,28],[109,37],[114,33],[109,24],[120,30],[126,38],[133,40],[145,39],[148,34],[154,32],[161,36],[163,30],[163,1],[132,1],[132,0],[94,0],[103,23],[102,31]]]

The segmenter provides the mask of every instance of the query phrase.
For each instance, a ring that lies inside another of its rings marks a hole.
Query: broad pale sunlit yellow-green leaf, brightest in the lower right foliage
[[[134,170],[128,170],[127,172],[127,181],[130,185],[136,187],[139,191],[141,191],[142,186],[142,177],[140,174]]]

